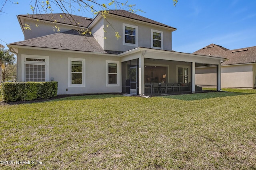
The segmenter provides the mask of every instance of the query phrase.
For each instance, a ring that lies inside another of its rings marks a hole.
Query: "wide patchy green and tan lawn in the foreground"
[[[255,170],[256,90],[225,91],[0,106],[0,169]]]

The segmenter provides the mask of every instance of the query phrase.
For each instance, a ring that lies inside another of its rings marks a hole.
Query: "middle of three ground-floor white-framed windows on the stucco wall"
[[[68,87],[85,87],[85,59],[68,58]]]

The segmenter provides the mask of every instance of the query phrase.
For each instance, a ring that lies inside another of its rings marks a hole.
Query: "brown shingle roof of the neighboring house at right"
[[[230,50],[220,45],[210,44],[195,51],[193,54],[227,58],[228,60],[224,61],[222,65],[256,62],[256,46]]]

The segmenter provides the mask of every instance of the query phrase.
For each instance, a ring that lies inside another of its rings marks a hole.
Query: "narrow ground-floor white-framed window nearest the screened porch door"
[[[106,86],[119,86],[119,61],[106,60]]]

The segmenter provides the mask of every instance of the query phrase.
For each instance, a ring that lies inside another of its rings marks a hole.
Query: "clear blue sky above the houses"
[[[0,6],[4,1],[0,0]],[[32,13],[30,0],[15,2],[19,4],[9,2],[0,13],[0,43],[5,46],[24,40],[16,16]],[[176,7],[172,0],[128,0],[128,4],[136,4],[145,12],[137,12],[138,15],[177,28],[172,33],[174,51],[193,53],[211,43],[228,49],[256,46],[255,0],[179,0]],[[93,17],[78,11],[72,14]]]

